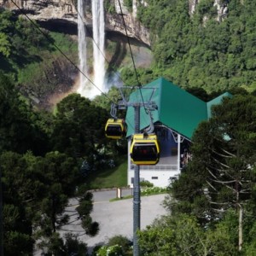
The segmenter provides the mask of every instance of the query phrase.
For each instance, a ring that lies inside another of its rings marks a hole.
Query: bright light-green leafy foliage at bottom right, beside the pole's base
[[[235,218],[234,218],[235,217]],[[138,231],[143,255],[238,255],[236,214],[213,227],[202,227],[188,214],[166,216]]]

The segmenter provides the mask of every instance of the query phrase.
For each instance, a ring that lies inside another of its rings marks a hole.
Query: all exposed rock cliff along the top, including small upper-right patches
[[[115,7],[113,14],[106,14],[106,34],[107,37],[116,37],[117,35],[125,35],[125,26],[123,24],[123,18],[120,14],[119,2],[117,0],[108,0],[109,3]],[[69,32],[77,34],[77,17],[78,12],[76,9],[75,0],[0,0],[0,7],[11,9],[20,13],[25,12],[30,18],[38,20],[41,25],[46,28],[54,28],[61,32]],[[86,6],[86,19],[84,20],[86,26],[91,29],[91,14],[90,14],[90,2],[91,0],[84,0]],[[133,13],[129,13],[123,4],[123,0],[120,3],[123,5],[122,9],[125,13],[125,25],[130,38],[134,38],[137,41],[150,45],[149,32],[140,24],[135,16],[137,13],[137,4],[143,4],[147,6],[146,0],[133,0]],[[196,6],[200,3],[200,0],[188,0],[189,3],[189,15],[195,13]],[[227,7],[228,1],[214,0],[213,5],[218,10],[217,20],[221,21],[228,13]]]

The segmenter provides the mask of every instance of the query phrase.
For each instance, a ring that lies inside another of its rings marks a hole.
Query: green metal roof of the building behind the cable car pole
[[[201,121],[211,116],[212,105],[221,102],[223,96],[230,96],[224,94],[211,102],[203,102],[186,90],[160,78],[144,85],[141,91],[136,90],[131,93],[129,102],[148,102],[153,92],[152,88],[154,95],[151,101],[158,106],[157,110],[152,111],[154,123],[159,121],[189,139]],[[141,108],[140,113],[140,129],[143,130],[150,124],[150,119],[144,108]],[[128,125],[127,137],[130,137],[134,133],[133,107],[127,109],[125,120]]]

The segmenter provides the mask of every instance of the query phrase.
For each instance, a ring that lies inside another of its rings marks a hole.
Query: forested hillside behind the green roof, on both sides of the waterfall
[[[126,12],[132,11],[131,3],[124,1]],[[139,41],[132,43],[138,46],[132,50],[141,84],[163,76],[186,90],[200,88],[207,93],[234,88],[250,92],[256,89],[255,0],[201,0],[199,3],[148,0],[147,4],[145,1],[136,4],[137,20],[150,32],[149,44],[154,57],[153,61],[149,50],[142,47],[143,42],[141,45]],[[105,8],[108,20],[116,20],[117,5],[110,1]],[[74,19],[74,10],[72,14]],[[42,15],[35,18],[43,19]],[[79,64],[78,46],[77,37],[70,28],[64,34],[60,33],[63,31],[60,21],[54,24],[51,20],[47,26],[40,21],[45,27],[42,28],[47,35],[45,38],[26,17],[18,19],[15,13],[2,9],[0,20],[0,69],[15,79],[32,104],[51,108],[55,97],[75,90],[78,70],[70,61]],[[134,25],[129,20],[126,22],[130,30]],[[58,26],[61,29],[57,29]],[[116,25],[112,29],[120,31]],[[137,27],[136,31],[140,29],[144,32],[143,27]],[[137,84],[125,43],[127,38],[121,34],[111,36],[110,32],[107,35],[110,37],[106,43],[108,72],[119,70],[125,84]],[[94,43],[89,42],[89,47],[91,44]],[[70,61],[55,49],[55,45]],[[89,55],[89,65],[91,57]]]

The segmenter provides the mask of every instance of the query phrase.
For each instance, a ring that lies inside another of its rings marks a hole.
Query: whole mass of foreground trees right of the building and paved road
[[[201,123],[169,214],[139,232],[143,255],[255,255],[255,113],[256,97],[239,95]]]

